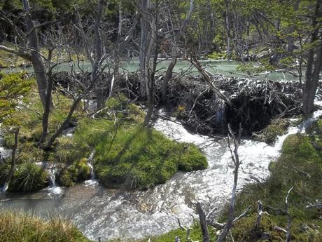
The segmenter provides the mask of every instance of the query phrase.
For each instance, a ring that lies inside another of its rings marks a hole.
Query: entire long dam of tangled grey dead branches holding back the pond
[[[57,86],[65,89],[79,89],[81,81],[89,81],[85,74],[57,73],[54,80]],[[177,116],[186,128],[202,134],[226,133],[227,123],[232,130],[238,130],[239,123],[245,135],[251,135],[265,128],[276,117],[292,116],[300,112],[301,89],[292,81],[259,81],[253,79],[214,76],[211,85],[200,76],[174,75],[169,80],[167,97],[162,102],[162,81],[160,74],[155,80],[155,104],[167,107]],[[102,75],[106,86],[102,87],[109,94],[111,74]],[[216,86],[229,100],[225,102],[211,86]],[[145,102],[146,95],[141,93],[139,75],[125,73],[115,80],[114,90],[123,93],[134,102]],[[92,93],[91,98],[95,98]]]

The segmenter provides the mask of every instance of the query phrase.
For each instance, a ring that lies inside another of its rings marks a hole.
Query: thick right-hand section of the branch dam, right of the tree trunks
[[[301,91],[294,82],[218,77],[214,85],[229,98],[231,106],[198,77],[172,79],[167,105],[186,126],[202,134],[225,133],[227,123],[233,130],[241,123],[245,133],[251,134],[277,116],[291,116],[300,110]]]

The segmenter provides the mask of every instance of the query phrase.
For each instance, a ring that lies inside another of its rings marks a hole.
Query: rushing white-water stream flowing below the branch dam
[[[315,113],[314,118],[318,115],[321,112]],[[34,194],[4,195],[0,208],[32,210],[43,217],[62,215],[95,240],[99,236],[103,239],[143,238],[162,234],[178,227],[177,217],[183,224],[191,224],[191,215],[197,216],[197,201],[203,203],[207,213],[210,210],[218,213],[228,201],[232,189],[233,165],[227,139],[194,135],[180,123],[169,120],[158,119],[155,128],[174,140],[197,144],[206,154],[209,168],[177,173],[166,184],[148,191],[105,189],[95,180],[63,190],[55,186],[54,180],[50,189]],[[289,133],[297,131],[298,128],[290,128]],[[243,161],[239,188],[247,182],[254,182],[253,177],[262,180],[269,175],[269,162],[279,156],[286,137],[279,137],[274,147],[263,142],[242,141],[239,147]],[[55,177],[54,168],[52,172]]]

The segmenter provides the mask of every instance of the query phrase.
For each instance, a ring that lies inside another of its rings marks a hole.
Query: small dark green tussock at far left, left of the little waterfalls
[[[21,163],[13,173],[8,191],[37,191],[47,186],[48,173],[34,163]]]

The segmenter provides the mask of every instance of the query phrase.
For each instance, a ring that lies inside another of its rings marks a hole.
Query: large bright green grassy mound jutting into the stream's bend
[[[141,124],[114,126],[109,121],[94,121],[80,126],[78,135],[88,146],[94,144],[94,171],[106,187],[125,184],[127,188],[147,189],[165,183],[178,170],[208,166],[195,145],[174,142]]]

